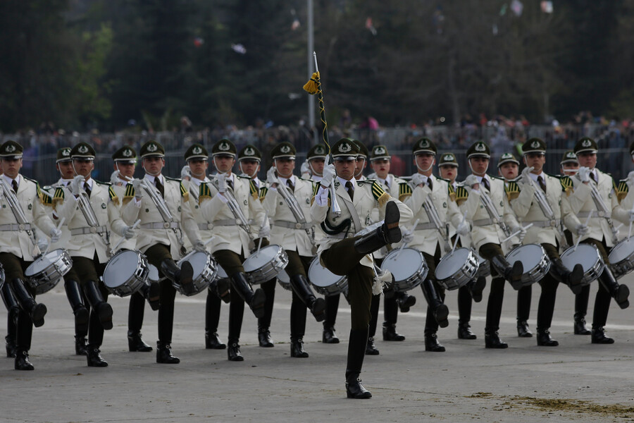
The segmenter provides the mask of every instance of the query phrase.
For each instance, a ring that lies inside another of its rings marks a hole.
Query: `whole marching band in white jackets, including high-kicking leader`
[[[227,348],[230,361],[244,360],[245,303],[258,319],[259,345],[275,345],[270,326],[277,283],[292,292],[291,357],[309,357],[307,312],[323,322],[323,343],[339,343],[335,319],[343,295],[352,310],[348,398],[372,396],[360,374],[363,357],[379,354],[374,336],[381,296],[383,340],[404,341],[397,314],[416,305],[410,291],[418,286],[427,302],[426,351],[445,351],[438,330],[449,324],[447,290],[458,294],[458,338],[477,338],[471,305],[483,300],[489,276],[486,348],[508,347],[499,336],[506,281],[518,291],[518,336],[532,336],[528,309],[537,282],[537,345],[559,345],[549,330],[563,283],[576,295],[574,333],[614,343],[604,326],[612,299],[621,309],[629,305],[628,287],[618,279],[634,270],[634,247],[629,236],[619,239],[619,223],[631,234],[634,173],[617,183],[597,168],[597,152],[595,140],[583,137],[561,159],[561,174],[550,175],[546,143],[531,138],[520,160],[511,153],[499,157],[497,177],[487,173],[490,147],[478,141],[466,151],[468,175],[460,182],[455,155],[437,157],[427,137],[412,146],[416,173],[406,177],[390,173],[385,145],[368,151],[342,138],[331,147],[313,146],[299,177],[294,145],[280,142],[261,181],[261,152],[253,145],[238,152],[223,139],[211,156],[203,145],[191,145],[181,178],[174,179],[163,176],[166,152],[151,140],[139,150],[143,178],[134,178],[137,152],[124,146],[112,156],[111,180],[102,183],[92,178],[94,148],[80,142],[58,151],[60,179],[41,187],[20,174],[23,147],[8,140],[0,145],[7,356],[15,357],[17,370],[34,369],[32,328],[46,315],[35,297],[61,279],[74,317],[75,353],[86,355],[91,367],[108,366],[100,348],[113,327],[111,293],[130,296],[131,352],[153,350],[141,334],[145,302],[158,311],[156,362],[166,364],[180,362],[171,351],[177,292],[206,292],[205,347]],[[373,173],[366,178],[368,160]],[[233,173],[236,161],[240,174]],[[520,161],[526,168],[518,173]],[[229,303],[227,344],[218,335],[222,302]]]

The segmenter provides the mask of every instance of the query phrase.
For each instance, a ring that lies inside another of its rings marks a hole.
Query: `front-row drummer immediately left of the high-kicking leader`
[[[288,255],[285,268],[292,288],[290,312],[291,357],[308,357],[304,350],[306,308],[317,321],[325,318],[325,301],[316,298],[309,285],[308,270],[316,251],[310,217],[313,183],[293,175],[295,147],[280,142],[271,150],[273,166],[266,175],[268,190],[262,205],[271,219],[271,243]]]

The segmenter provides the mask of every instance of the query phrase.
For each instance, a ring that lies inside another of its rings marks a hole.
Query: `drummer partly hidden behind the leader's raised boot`
[[[363,145],[361,142],[359,144]],[[363,149],[366,149],[365,145],[363,145]],[[385,147],[385,145],[375,145],[370,154],[370,166],[372,166],[372,170],[374,172],[371,173],[368,178],[377,180],[383,187],[383,190],[390,194],[390,197],[399,198],[399,185],[405,181],[390,173],[391,158],[392,157],[387,151],[387,147]],[[357,158],[357,161],[359,161],[359,158]],[[357,178],[357,180],[359,180],[359,178]],[[375,216],[373,216],[373,220],[374,219],[378,219],[378,210],[376,211]],[[387,250],[385,248],[374,252],[373,257],[376,259],[377,266],[381,266],[385,255],[387,255]],[[373,337],[378,321],[380,297],[380,295],[373,295],[372,297],[372,319],[370,321],[370,337],[368,338],[368,350],[366,350],[366,354],[371,353],[376,349],[373,345]],[[405,336],[401,335],[396,330],[399,308],[401,308],[403,312],[408,312],[409,308],[413,307],[415,304],[416,297],[414,297],[414,295],[397,292],[393,289],[385,291],[383,299],[383,316],[385,317],[385,321],[383,321],[383,341],[405,340]]]

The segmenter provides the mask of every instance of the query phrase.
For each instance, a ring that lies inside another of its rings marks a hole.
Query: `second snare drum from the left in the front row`
[[[158,276],[158,271],[156,272]],[[118,297],[127,297],[149,286],[147,258],[137,250],[123,250],[114,255],[104,270],[104,285]]]

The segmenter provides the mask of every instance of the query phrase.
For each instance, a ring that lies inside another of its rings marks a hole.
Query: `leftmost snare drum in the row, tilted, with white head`
[[[73,260],[63,248],[53,250],[32,262],[24,272],[27,283],[35,289],[35,294],[43,294],[53,289],[59,280],[73,268]]]

